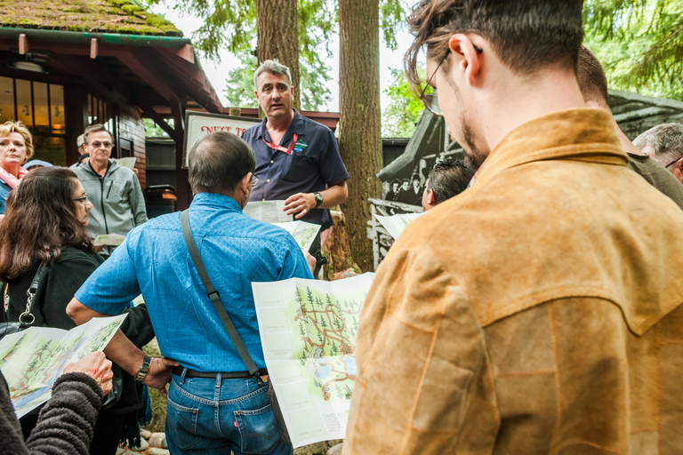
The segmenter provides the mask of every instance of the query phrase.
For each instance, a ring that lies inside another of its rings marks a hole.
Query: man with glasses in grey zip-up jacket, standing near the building
[[[104,125],[90,125],[83,135],[90,160],[76,166],[74,172],[92,203],[88,230],[93,237],[126,235],[147,221],[140,181],[135,172],[110,159],[114,144]],[[105,247],[101,254],[108,256],[112,250]]]

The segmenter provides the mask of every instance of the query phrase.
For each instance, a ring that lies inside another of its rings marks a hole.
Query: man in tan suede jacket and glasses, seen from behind
[[[582,3],[412,13],[408,76],[425,50],[481,167],[378,270],[344,454],[683,452],[683,212],[584,108]]]

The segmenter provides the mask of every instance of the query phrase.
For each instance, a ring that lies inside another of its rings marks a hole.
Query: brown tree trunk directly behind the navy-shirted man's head
[[[301,110],[299,72],[299,15],[297,0],[257,0],[256,57],[259,65],[277,59],[289,67],[294,87],[294,108]]]

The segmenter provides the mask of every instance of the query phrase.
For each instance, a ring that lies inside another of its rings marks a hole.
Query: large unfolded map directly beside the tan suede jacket
[[[373,278],[252,283],[266,365],[294,447],[346,433],[358,322]]]

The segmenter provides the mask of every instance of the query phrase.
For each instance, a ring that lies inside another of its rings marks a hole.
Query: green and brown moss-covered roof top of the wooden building
[[[65,31],[182,36],[131,0],[0,0],[0,25]]]

